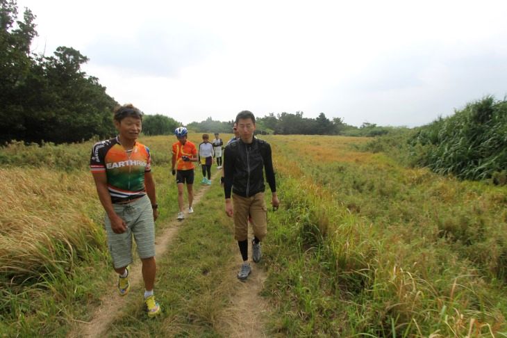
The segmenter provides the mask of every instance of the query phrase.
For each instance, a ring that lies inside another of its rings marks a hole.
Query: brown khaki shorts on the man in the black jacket
[[[234,238],[236,241],[248,239],[248,216],[250,214],[253,223],[253,235],[260,241],[267,233],[267,207],[264,193],[244,198],[233,193],[234,208]]]

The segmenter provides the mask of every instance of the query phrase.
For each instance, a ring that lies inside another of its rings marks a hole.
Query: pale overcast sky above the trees
[[[33,50],[88,56],[120,104],[184,124],[324,113],[415,127],[507,94],[507,1],[18,0]]]

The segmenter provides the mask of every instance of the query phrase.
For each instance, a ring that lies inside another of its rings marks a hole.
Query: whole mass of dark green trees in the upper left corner
[[[53,56],[35,56],[30,44],[37,35],[30,10],[17,21],[14,0],[0,0],[0,142],[67,143],[92,136],[112,136],[112,110],[117,102],[81,65],[88,61],[71,47]]]

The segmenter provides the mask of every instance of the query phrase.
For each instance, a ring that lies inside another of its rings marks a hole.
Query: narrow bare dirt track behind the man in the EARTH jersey
[[[218,171],[213,175],[215,179],[219,175]],[[210,186],[203,186],[199,191],[194,193],[194,202],[196,205],[199,203],[204,193],[208,191]],[[155,239],[155,256],[161,257],[165,255],[170,243],[178,233],[179,227],[185,223],[185,220],[171,220],[167,224],[167,229],[162,234],[156,236]],[[113,277],[113,274],[112,274]],[[140,260],[135,260],[131,264],[131,277],[129,277],[131,283],[131,291],[138,285],[142,284],[141,264]],[[106,293],[101,298],[101,305],[95,309],[92,319],[89,322],[78,321],[80,325],[77,325],[74,330],[69,332],[67,337],[103,337],[110,323],[113,323],[115,319],[122,316],[121,309],[128,301],[128,296],[121,297],[118,295],[115,288]]]

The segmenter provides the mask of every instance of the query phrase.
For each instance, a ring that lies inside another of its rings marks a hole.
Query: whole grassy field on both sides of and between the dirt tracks
[[[263,138],[274,149],[282,202],[269,211],[264,243],[270,336],[507,336],[505,186],[404,168],[358,151],[366,138]],[[153,155],[158,233],[177,210],[174,140],[141,140]],[[112,285],[91,147],[0,150],[3,335],[64,336]],[[239,254],[219,186],[185,223],[158,259],[163,316],[147,321],[133,298],[111,336],[224,335]]]

